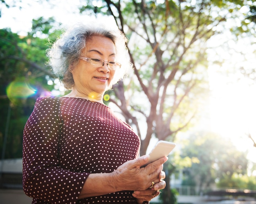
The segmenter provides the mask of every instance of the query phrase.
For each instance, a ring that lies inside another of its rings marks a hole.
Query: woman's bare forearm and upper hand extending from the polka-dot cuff
[[[127,161],[112,173],[90,174],[79,199],[117,191],[144,191],[152,185],[152,181],[159,182],[162,164],[166,160],[167,157],[163,157],[145,168],[140,168],[148,161],[148,156],[143,156]],[[162,188],[162,183],[158,186],[159,189]]]

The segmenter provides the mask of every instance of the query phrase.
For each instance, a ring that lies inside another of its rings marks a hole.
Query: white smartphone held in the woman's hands
[[[141,166],[147,166],[151,162],[160,159],[162,157],[167,157],[171,151],[175,148],[176,144],[173,142],[168,142],[168,141],[163,141],[159,140],[155,147],[151,150],[151,152],[148,154],[149,155],[149,161],[147,164]]]

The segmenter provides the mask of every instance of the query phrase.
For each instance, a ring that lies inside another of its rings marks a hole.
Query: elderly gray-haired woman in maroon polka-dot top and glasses
[[[32,203],[148,203],[165,187],[163,157],[141,168],[140,140],[103,103],[130,67],[126,38],[97,22],[67,30],[47,50],[71,92],[40,97],[23,135],[23,189]]]

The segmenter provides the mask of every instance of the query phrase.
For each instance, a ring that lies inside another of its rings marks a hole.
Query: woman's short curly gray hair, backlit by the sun
[[[52,67],[54,74],[58,76],[68,90],[74,86],[70,69],[79,63],[79,56],[90,36],[104,36],[110,38],[115,44],[116,61],[121,63],[121,69],[116,70],[108,89],[121,78],[124,78],[132,67],[126,47],[127,38],[118,28],[109,29],[98,21],[91,21],[86,24],[78,23],[66,29],[62,36],[47,49],[47,57],[49,58],[47,64]]]

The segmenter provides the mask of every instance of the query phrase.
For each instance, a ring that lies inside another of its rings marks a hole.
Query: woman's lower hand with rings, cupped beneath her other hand
[[[143,201],[150,201],[154,197],[158,196],[160,194],[159,190],[164,189],[166,186],[165,181],[162,179],[165,178],[165,173],[164,171],[161,171],[159,173],[159,182],[155,183],[153,186],[150,186],[150,188],[146,189],[145,191],[134,191],[133,192],[133,197],[137,198],[137,202],[139,204],[142,204]],[[151,188],[152,187],[152,188]]]

